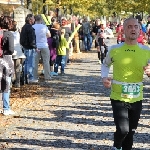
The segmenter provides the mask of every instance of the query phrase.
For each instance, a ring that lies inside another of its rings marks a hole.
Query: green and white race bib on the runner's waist
[[[122,84],[121,97],[123,98],[137,98],[140,96],[139,84]]]

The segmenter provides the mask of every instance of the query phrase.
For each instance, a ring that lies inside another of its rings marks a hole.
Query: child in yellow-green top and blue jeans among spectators
[[[57,57],[56,62],[54,64],[54,72],[58,72],[58,67],[61,65],[61,75],[64,75],[64,68],[65,68],[65,62],[66,62],[66,51],[69,48],[69,44],[67,43],[67,40],[64,38],[65,35],[65,29],[61,30],[61,38],[59,42],[59,47],[57,50]]]

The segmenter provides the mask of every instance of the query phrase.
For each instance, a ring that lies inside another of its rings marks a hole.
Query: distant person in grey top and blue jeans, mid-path
[[[91,25],[87,17],[84,18],[82,23],[83,38],[85,51],[90,51],[92,47]]]

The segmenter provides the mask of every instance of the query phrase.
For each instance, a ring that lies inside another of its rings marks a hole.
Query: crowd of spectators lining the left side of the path
[[[28,14],[24,26],[18,28],[17,22],[11,17],[0,17],[1,60],[9,64],[5,68],[10,70],[10,74],[5,75],[5,78],[3,78],[5,73],[2,70],[2,82],[7,85],[7,91],[2,87],[4,115],[14,114],[9,104],[11,85],[19,88],[22,84],[39,81],[39,61],[43,64],[45,83],[49,83],[52,76],[58,75],[59,66],[61,66],[60,74],[65,74],[65,66],[70,63],[70,51],[74,46],[74,39],[70,41],[69,38],[78,24],[82,25],[75,34],[79,37],[78,45],[79,41],[82,43],[80,49],[90,51],[93,40],[97,36],[95,46],[98,49],[99,59],[102,55],[102,62],[104,52],[106,56],[107,45],[99,39],[101,36],[97,34],[104,31],[103,23],[99,19],[92,22],[84,17],[73,23],[65,17],[57,20],[55,16],[52,16],[51,24],[47,26],[44,24],[42,15]],[[100,55],[102,46],[106,50]]]

